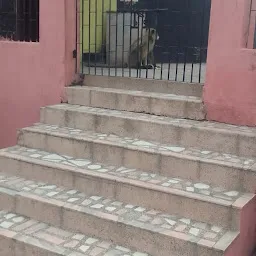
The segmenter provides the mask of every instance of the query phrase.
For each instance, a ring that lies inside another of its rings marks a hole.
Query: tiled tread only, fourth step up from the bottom
[[[73,138],[81,141],[90,141],[102,144],[111,144],[144,152],[172,155],[178,158],[191,159],[206,163],[214,163],[227,167],[240,168],[246,171],[256,171],[256,158],[241,157],[233,154],[219,153],[182,145],[163,144],[156,141],[140,140],[130,137],[121,137],[113,134],[103,134],[93,131],[84,131],[69,127],[59,127],[37,123],[31,127],[23,128],[24,131],[51,134],[57,137]]]

